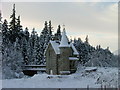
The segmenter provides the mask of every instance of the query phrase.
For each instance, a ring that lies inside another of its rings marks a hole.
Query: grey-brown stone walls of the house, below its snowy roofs
[[[70,61],[69,57],[73,57],[73,50],[70,47],[60,47],[60,54],[56,54],[52,45],[49,44],[46,51],[46,72],[47,74],[59,75],[61,71],[70,71],[74,73],[76,70],[75,61]]]

